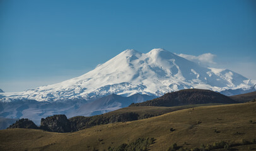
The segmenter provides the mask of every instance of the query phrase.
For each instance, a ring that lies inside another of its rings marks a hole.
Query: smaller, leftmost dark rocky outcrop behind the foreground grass
[[[9,128],[33,128],[38,129],[38,126],[33,123],[33,121],[28,120],[27,118],[21,118],[20,120],[10,125]]]

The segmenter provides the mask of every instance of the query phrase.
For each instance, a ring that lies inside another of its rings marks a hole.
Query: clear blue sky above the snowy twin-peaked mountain
[[[128,48],[211,53],[210,66],[256,79],[256,1],[0,1],[3,91],[81,76]]]

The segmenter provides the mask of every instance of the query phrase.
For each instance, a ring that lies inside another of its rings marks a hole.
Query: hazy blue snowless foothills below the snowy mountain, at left
[[[23,99],[11,102],[0,102],[0,117],[28,118],[39,125],[40,119],[46,118],[47,116],[63,114],[71,118],[79,115],[101,115],[108,111],[127,107],[131,103],[139,103],[153,98],[156,98],[156,96],[134,94],[129,97],[123,97],[110,94],[90,101],[89,103],[84,100],[49,102]]]

